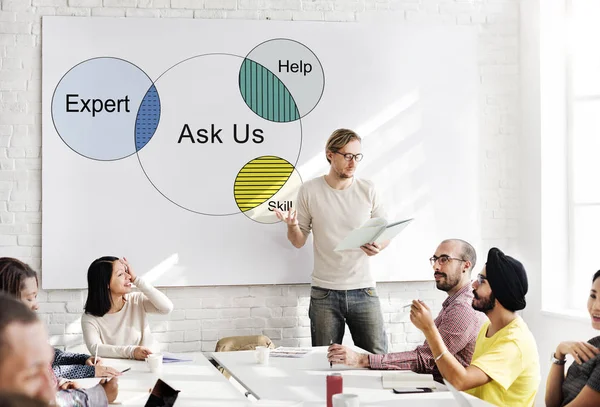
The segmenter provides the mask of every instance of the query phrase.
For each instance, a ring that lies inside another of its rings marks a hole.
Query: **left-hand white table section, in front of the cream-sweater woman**
[[[176,390],[180,390],[176,407],[246,407],[248,399],[210,363],[201,353],[186,353],[182,358],[192,362],[165,363],[160,374],[150,373],[146,362],[129,359],[104,359],[104,364],[123,370],[131,370],[119,377],[119,396],[114,404],[144,406],[149,390],[161,378]],[[75,380],[83,387],[91,387],[98,379]],[[250,404],[251,405],[251,404]]]

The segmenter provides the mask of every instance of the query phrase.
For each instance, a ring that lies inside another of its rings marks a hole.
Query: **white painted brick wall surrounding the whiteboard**
[[[44,15],[477,26],[481,149],[473,159],[481,162],[481,249],[514,246],[519,209],[518,0],[0,0],[0,5],[0,256],[41,268]],[[430,282],[385,283],[379,292],[394,351],[422,341],[400,306],[424,298],[439,309],[444,299]],[[168,288],[166,293],[175,311],[152,318],[152,329],[169,351],[211,351],[221,337],[260,333],[278,345],[310,344],[308,286]],[[81,344],[85,297],[78,290],[40,293],[39,313],[53,344]]]

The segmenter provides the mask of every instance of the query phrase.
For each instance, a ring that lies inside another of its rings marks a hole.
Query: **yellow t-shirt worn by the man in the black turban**
[[[467,390],[489,403],[505,407],[531,407],[540,384],[540,364],[535,339],[521,317],[486,337],[486,321],[475,342],[471,361],[492,381]]]

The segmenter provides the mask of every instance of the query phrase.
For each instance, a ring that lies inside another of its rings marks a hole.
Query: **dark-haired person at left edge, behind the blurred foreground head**
[[[0,291],[22,301],[32,311],[37,311],[38,277],[26,263],[12,257],[0,257]],[[54,348],[52,370],[56,377],[64,379],[84,379],[87,377],[119,376],[120,372],[102,365],[102,360],[94,360],[83,353],[63,352]]]

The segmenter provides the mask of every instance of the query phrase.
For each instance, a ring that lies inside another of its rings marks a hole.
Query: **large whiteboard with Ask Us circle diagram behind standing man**
[[[415,218],[378,281],[479,244],[471,28],[44,17],[42,35],[44,289],[85,288],[104,255],[159,286],[310,282],[312,240],[293,248],[269,205],[328,171],[339,127],[390,220]]]

